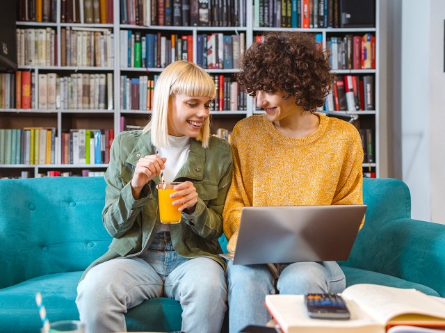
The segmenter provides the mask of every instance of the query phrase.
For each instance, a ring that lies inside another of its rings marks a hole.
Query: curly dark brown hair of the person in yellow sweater
[[[295,97],[296,105],[314,112],[323,106],[335,77],[328,55],[316,47],[313,34],[266,33],[264,42],[255,42],[245,51],[236,79],[252,97],[258,90],[283,90],[289,94],[283,99]]]

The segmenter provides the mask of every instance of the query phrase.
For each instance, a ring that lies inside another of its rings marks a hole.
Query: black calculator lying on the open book
[[[307,293],[305,304],[314,319],[348,320],[350,313],[339,293]]]

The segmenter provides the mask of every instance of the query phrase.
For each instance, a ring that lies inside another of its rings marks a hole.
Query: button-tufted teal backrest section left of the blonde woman
[[[0,180],[0,288],[85,269],[111,242],[103,177]]]

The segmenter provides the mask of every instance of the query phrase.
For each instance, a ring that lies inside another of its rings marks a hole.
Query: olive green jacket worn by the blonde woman
[[[108,252],[94,261],[93,266],[117,257],[136,257],[152,243],[160,225],[158,176],[148,182],[134,200],[130,181],[141,156],[155,154],[150,133],[124,131],[111,146],[110,163],[105,172],[106,197],[102,212],[104,226],[113,241]],[[170,161],[172,163],[172,161]],[[225,197],[232,181],[232,150],[227,141],[211,137],[209,147],[192,139],[186,163],[175,181],[192,181],[198,193],[195,211],[182,212],[181,222],[170,225],[172,245],[183,257],[208,257],[225,268],[218,256],[218,237],[223,234]],[[82,278],[83,278],[82,276]]]

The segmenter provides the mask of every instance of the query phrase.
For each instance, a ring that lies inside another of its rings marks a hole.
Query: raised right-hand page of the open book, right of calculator
[[[382,325],[397,321],[439,321],[445,323],[445,304],[415,289],[399,289],[377,284],[355,284],[343,293],[344,298],[355,300],[368,314]],[[423,319],[423,320],[422,320]]]

